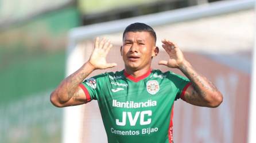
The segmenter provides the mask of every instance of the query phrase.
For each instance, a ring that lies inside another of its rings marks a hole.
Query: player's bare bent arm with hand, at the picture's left
[[[51,93],[51,102],[57,107],[85,104],[87,99],[80,88],[80,84],[96,69],[107,69],[116,66],[116,63],[107,63],[106,55],[113,45],[105,38],[99,41],[96,38],[94,51],[88,62],[79,70],[65,78]]]

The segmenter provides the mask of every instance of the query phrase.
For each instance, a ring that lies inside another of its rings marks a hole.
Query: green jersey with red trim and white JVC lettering
[[[109,143],[173,142],[173,103],[184,96],[188,78],[149,70],[134,78],[125,70],[88,78],[80,87],[97,100]]]

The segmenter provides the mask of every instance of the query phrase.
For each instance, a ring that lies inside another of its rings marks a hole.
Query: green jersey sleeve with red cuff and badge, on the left
[[[80,84],[80,88],[83,89],[84,93],[86,94],[87,102],[91,100],[98,100],[98,93],[100,92],[100,86],[104,81],[105,74],[99,74],[98,76],[88,78]]]

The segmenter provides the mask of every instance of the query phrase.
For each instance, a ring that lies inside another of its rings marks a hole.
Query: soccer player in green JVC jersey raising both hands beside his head
[[[162,40],[162,47],[169,59],[159,64],[180,69],[186,77],[151,68],[159,49],[156,33],[144,23],[133,23],[123,32],[124,70],[85,80],[94,70],[117,65],[106,61],[112,46],[106,38],[96,38],[90,59],[51,94],[51,102],[57,107],[97,100],[108,142],[173,142],[174,101],[181,98],[210,108],[222,103],[223,96],[214,84],[197,73],[179,47],[167,39]]]

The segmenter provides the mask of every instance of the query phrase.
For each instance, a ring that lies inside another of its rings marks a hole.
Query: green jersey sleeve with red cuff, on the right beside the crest
[[[184,100],[184,94],[188,86],[191,85],[191,81],[187,77],[180,76],[172,72],[168,72],[168,78],[173,82],[174,86],[177,88],[177,94],[175,100],[179,98]]]

